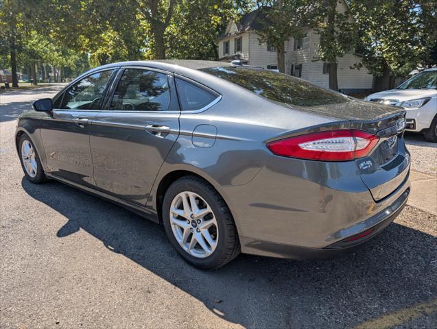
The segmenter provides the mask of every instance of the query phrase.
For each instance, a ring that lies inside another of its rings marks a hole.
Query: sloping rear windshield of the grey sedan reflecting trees
[[[349,101],[346,96],[314,86],[291,75],[248,67],[211,67],[200,69],[221,77],[259,96],[289,106],[320,106]]]

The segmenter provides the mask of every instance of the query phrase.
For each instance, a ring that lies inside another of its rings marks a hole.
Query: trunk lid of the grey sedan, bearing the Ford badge
[[[379,103],[351,99],[344,103],[325,106],[295,106],[297,110],[326,115],[336,119],[338,125],[316,127],[298,132],[310,133],[318,130],[344,129],[340,123],[347,120],[351,130],[361,130],[379,136],[377,145],[364,158],[355,159],[362,181],[368,187],[375,201],[380,201],[395,191],[408,177],[410,154],[405,148],[403,132],[405,110]]]

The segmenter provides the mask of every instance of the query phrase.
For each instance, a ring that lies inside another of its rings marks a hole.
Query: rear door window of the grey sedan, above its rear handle
[[[115,90],[110,110],[166,111],[171,101],[167,74],[126,69]]]

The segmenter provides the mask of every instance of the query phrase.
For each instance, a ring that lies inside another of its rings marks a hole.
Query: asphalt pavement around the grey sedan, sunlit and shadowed
[[[23,179],[14,119],[53,93],[0,95],[0,328],[437,327],[436,216],[408,206],[338,260],[240,256],[199,271],[161,226]]]

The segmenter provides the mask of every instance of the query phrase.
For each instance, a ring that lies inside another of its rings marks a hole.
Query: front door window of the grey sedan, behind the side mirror
[[[62,97],[61,109],[102,110],[102,97],[114,70],[84,77],[68,88]]]

